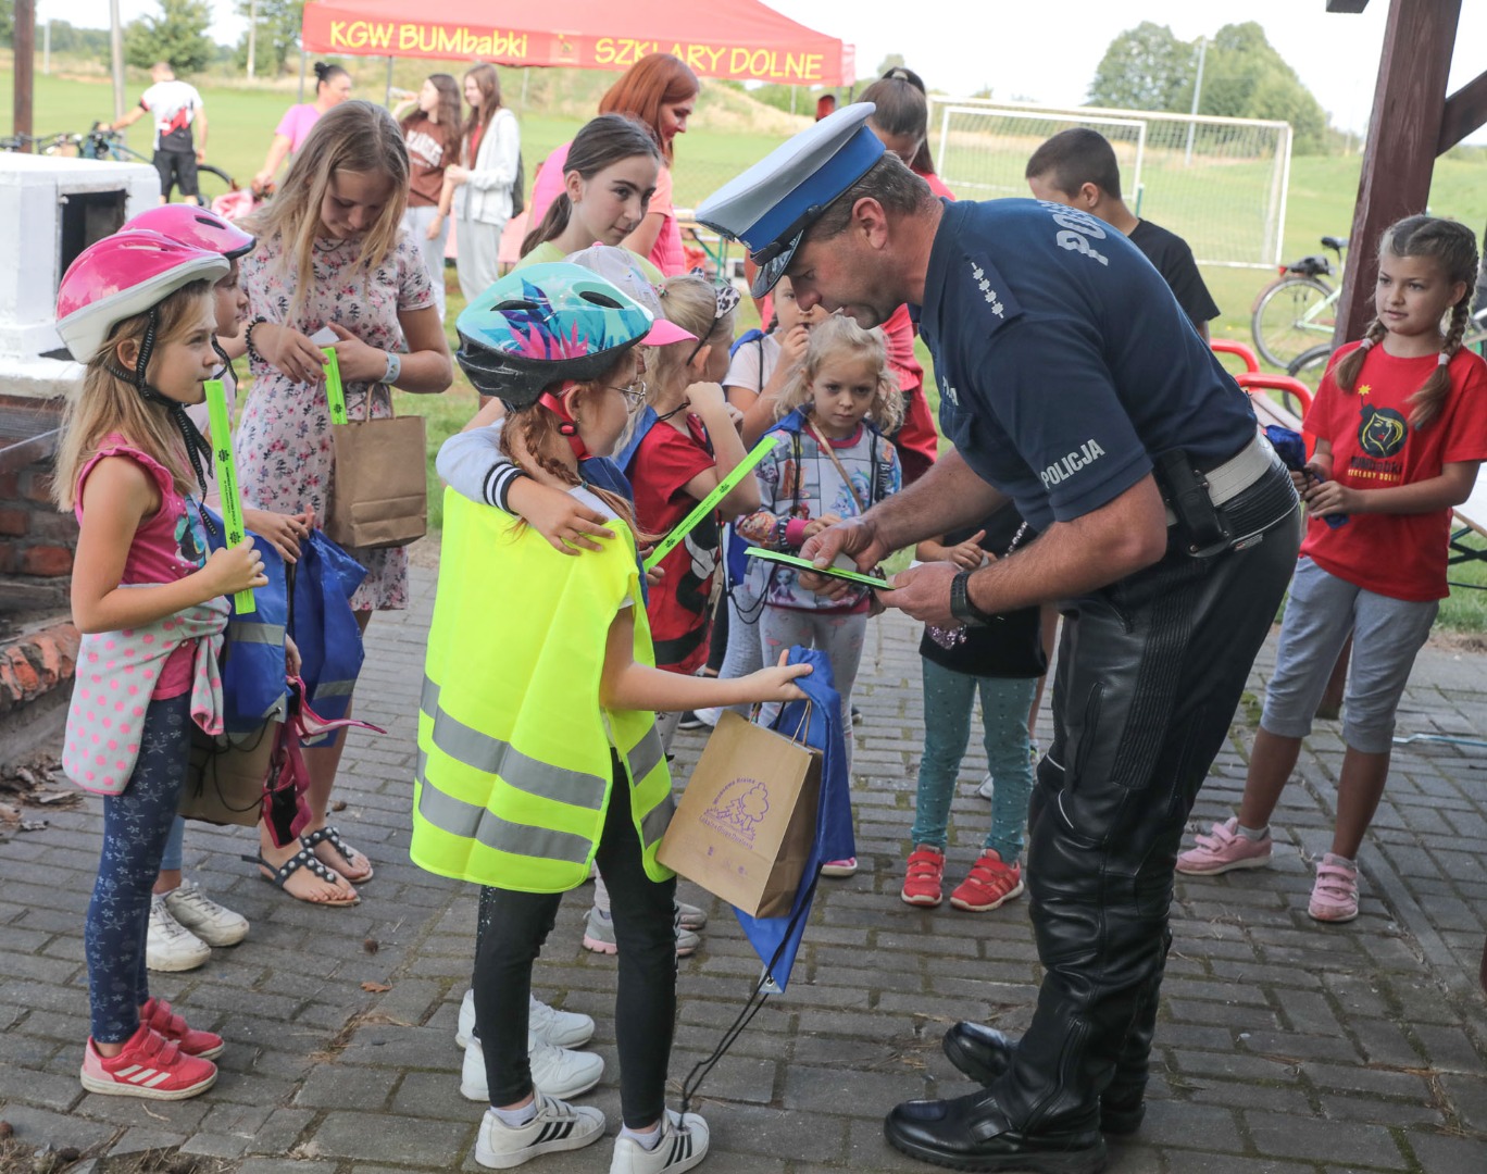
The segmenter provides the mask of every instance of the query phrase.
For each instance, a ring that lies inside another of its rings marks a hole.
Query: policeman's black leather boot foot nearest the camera
[[[1097,1174],[1106,1161],[1093,1123],[1023,1132],[984,1091],[953,1101],[906,1101],[883,1120],[883,1137],[910,1158],[950,1170]]]

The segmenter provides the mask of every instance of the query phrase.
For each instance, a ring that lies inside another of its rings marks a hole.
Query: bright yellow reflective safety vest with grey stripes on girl
[[[645,872],[671,823],[656,716],[599,705],[604,649],[629,601],[635,661],[654,664],[635,539],[561,555],[531,527],[445,491],[439,594],[418,716],[413,863],[525,893],[589,879],[614,783],[630,787]]]

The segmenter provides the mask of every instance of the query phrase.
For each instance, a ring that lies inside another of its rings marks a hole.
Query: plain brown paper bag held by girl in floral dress
[[[364,397],[367,412],[372,396]],[[335,473],[326,534],[360,551],[403,546],[428,531],[424,418],[352,420],[330,427]]]

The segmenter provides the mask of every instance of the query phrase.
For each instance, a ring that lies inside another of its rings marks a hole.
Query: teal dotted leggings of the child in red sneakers
[[[971,708],[981,693],[981,732],[986,763],[996,780],[992,795],[992,830],[984,848],[995,848],[1013,865],[1023,850],[1032,763],[1028,760],[1028,710],[1038,681],[971,677],[923,661],[925,753],[919,759],[919,798],[915,803],[913,842],[944,851],[950,799],[961,759],[971,741]]]

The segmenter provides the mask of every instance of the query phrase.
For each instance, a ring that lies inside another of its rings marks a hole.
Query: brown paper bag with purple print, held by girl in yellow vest
[[[724,713],[657,856],[751,917],[788,914],[816,838],[819,792],[821,751]]]

